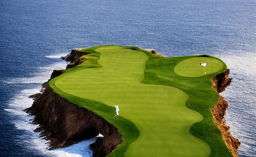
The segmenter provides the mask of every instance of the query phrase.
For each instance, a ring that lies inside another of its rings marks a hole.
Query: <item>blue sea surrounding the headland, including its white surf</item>
[[[49,151],[22,111],[59,59],[102,44],[155,49],[164,56],[209,54],[230,68],[222,93],[239,156],[256,156],[255,0],[1,0],[0,156],[91,156],[89,144]]]

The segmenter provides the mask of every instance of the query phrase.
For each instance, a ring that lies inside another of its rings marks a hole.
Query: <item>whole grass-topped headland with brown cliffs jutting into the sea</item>
[[[238,156],[218,94],[231,82],[222,60],[115,45],[74,49],[63,59],[66,69],[54,70],[25,110],[50,149],[101,133],[90,145],[94,157]]]

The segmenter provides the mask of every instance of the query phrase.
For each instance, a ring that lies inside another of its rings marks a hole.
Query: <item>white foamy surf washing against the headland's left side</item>
[[[40,67],[42,73],[35,74],[35,77],[31,78],[17,78],[9,80],[6,83],[43,83],[47,81],[50,77],[53,69],[63,69],[66,67],[66,63],[56,63],[49,67]],[[90,140],[85,140],[74,144],[70,147],[60,148],[56,150],[48,150],[47,141],[39,137],[39,133],[35,133],[34,129],[38,125],[31,124],[34,116],[29,116],[27,113],[22,111],[30,107],[33,104],[33,99],[28,98],[29,95],[39,93],[41,86],[34,89],[24,89],[20,91],[13,99],[10,100],[10,108],[5,109],[9,112],[12,117],[12,123],[17,129],[25,130],[27,133],[25,135],[19,136],[17,141],[29,145],[31,149],[38,150],[44,156],[57,156],[57,157],[89,157],[92,156],[92,151],[89,148],[89,144],[94,143],[96,138]]]

